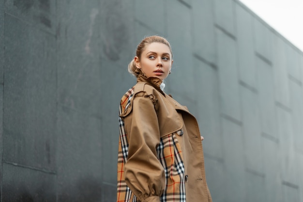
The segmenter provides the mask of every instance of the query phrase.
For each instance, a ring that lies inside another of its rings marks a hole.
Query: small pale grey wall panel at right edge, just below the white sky
[[[301,71],[300,66],[300,54],[292,46],[286,45],[286,65],[288,67],[288,74],[295,78],[298,82],[301,82]]]

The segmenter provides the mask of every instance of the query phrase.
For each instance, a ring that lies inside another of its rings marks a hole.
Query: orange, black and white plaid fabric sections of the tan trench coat
[[[134,87],[128,90],[121,99],[120,114],[130,106],[134,96]],[[119,117],[120,139],[118,152],[118,185],[117,202],[137,202],[135,194],[126,185],[124,180],[124,164],[128,155],[128,137],[125,134],[124,121]],[[182,161],[181,146],[175,133],[160,139],[157,147],[157,158],[165,169],[166,187],[160,197],[161,202],[185,202],[184,164]]]

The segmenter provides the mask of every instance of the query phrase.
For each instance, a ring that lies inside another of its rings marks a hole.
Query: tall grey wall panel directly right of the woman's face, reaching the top
[[[194,88],[188,86],[194,86],[193,76],[196,71],[192,63],[190,12],[191,10],[180,1],[170,4],[167,8],[167,36],[174,60],[171,74],[166,79],[167,92],[187,106],[195,101]]]

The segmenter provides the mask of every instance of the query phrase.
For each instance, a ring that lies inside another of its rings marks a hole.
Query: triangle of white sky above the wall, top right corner
[[[303,51],[303,0],[240,0]]]

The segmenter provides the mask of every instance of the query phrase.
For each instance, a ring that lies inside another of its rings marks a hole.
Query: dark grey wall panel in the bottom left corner
[[[55,202],[56,175],[3,163],[3,202]]]

